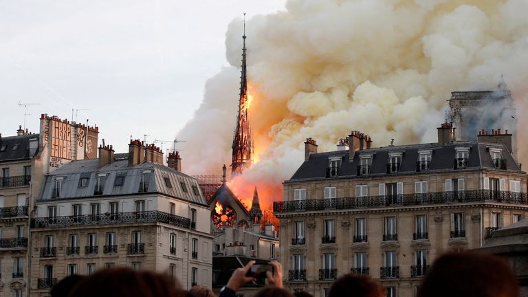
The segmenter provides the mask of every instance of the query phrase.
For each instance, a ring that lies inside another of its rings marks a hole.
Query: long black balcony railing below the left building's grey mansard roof
[[[27,214],[27,208],[26,208]],[[32,228],[62,228],[79,225],[113,225],[125,223],[168,223],[181,228],[190,228],[190,219],[179,217],[167,212],[157,210],[146,212],[120,212],[113,217],[110,214],[86,214],[82,216],[64,216],[64,217],[41,217],[31,220]]]

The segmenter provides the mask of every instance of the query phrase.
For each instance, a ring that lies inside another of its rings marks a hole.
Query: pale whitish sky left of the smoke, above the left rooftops
[[[230,67],[228,24],[284,3],[0,0],[0,133],[16,135],[24,124],[21,103],[32,104],[25,127],[34,133],[47,113],[96,124],[100,144],[116,153],[131,136],[171,141],[199,107],[206,80]]]

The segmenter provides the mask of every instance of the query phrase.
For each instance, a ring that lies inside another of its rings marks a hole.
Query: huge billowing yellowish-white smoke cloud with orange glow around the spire
[[[520,114],[527,109],[527,11],[525,0],[290,0],[284,11],[252,17],[246,35],[259,162],[232,186],[251,199],[256,184],[264,206],[281,199],[306,137],[320,151],[334,150],[351,130],[371,135],[373,146],[392,138],[434,142],[450,92],[496,89],[501,74]],[[232,67],[208,81],[195,118],[179,132],[187,173],[218,174],[231,162],[242,28],[241,19],[229,25]],[[519,152],[522,162],[527,152]]]

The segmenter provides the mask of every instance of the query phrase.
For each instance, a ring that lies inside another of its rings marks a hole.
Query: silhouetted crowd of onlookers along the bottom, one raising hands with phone
[[[248,276],[255,261],[236,269],[219,297],[236,297],[246,283],[256,281]],[[270,262],[267,285],[255,297],[309,297],[307,292],[289,292],[283,287],[283,267]],[[214,297],[210,289],[195,286],[187,291],[166,274],[135,271],[125,267],[101,270],[91,276],[68,276],[52,288],[52,297]],[[385,287],[371,276],[346,274],[334,281],[328,297],[385,297]],[[444,254],[428,270],[417,293],[418,297],[518,297],[519,286],[508,263],[491,254],[460,252]]]

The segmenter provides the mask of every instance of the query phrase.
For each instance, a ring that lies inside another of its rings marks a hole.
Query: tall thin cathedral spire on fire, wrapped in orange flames
[[[245,168],[251,165],[251,155],[253,153],[253,143],[250,129],[250,115],[248,98],[248,78],[246,76],[245,62],[245,13],[244,13],[244,34],[242,36],[242,69],[240,76],[239,113],[236,115],[236,128],[233,137],[233,161],[231,164],[231,177],[239,175]]]

